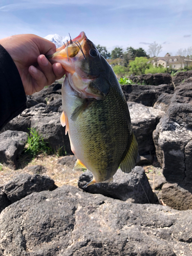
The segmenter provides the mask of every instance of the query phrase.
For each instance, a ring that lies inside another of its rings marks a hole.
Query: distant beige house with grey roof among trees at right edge
[[[170,54],[166,54],[164,57],[154,57],[152,60],[153,65],[163,66],[164,68],[170,67],[172,69],[180,69],[185,66],[192,64],[192,59],[184,56],[170,56]]]

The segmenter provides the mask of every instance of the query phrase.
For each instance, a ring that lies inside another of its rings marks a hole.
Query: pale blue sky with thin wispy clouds
[[[0,39],[32,33],[76,37],[115,47],[162,45],[159,56],[192,46],[191,0],[0,0]]]

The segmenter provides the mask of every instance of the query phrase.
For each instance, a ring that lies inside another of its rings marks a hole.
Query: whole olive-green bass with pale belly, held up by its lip
[[[108,61],[84,32],[48,58],[66,71],[60,122],[77,158],[74,169],[93,173],[84,187],[112,180],[119,166],[124,173],[131,172],[138,144],[125,96]]]

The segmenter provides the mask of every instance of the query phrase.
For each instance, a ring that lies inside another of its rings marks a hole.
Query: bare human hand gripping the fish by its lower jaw
[[[33,34],[13,35],[0,39],[0,44],[15,62],[27,95],[39,92],[65,74],[60,63],[51,65],[45,57],[56,52],[53,42],[47,39]]]

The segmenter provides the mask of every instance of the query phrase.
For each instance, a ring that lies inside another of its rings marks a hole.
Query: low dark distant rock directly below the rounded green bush
[[[172,77],[170,74],[144,74],[140,76],[130,77],[134,83],[145,83],[151,86],[159,86],[160,84],[172,83]]]

